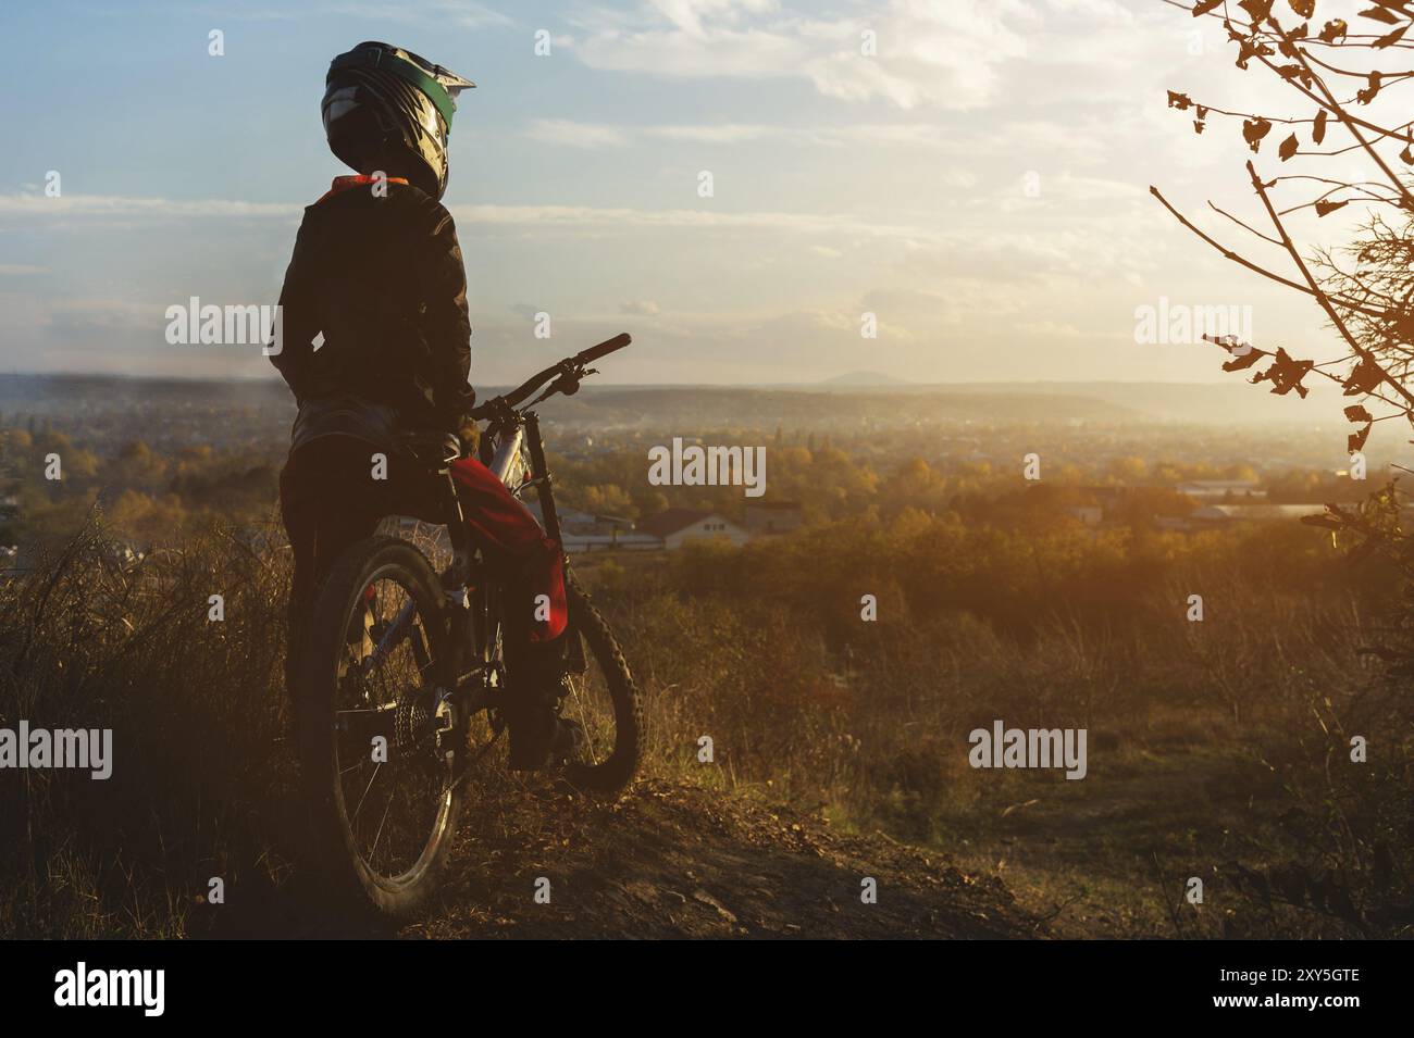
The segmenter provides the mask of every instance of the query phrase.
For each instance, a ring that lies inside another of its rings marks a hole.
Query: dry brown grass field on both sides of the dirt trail
[[[1410,696],[1359,654],[1348,602],[1208,573],[1223,609],[1189,624],[1192,579],[1171,573],[1123,623],[1062,607],[998,633],[947,603],[911,616],[875,583],[881,621],[851,624],[857,595],[822,621],[820,587],[742,595],[752,559],[699,562],[590,572],[648,696],[649,775],[940,846],[1062,932],[1410,932]],[[848,555],[820,572],[847,587]],[[0,935],[201,935],[209,877],[288,881],[286,592],[287,552],[216,528],[120,565],[90,527],[0,583],[0,723],[112,727],[116,761],[106,782],[0,784],[17,837],[0,842]],[[993,719],[1086,727],[1089,778],[969,768],[967,732]],[[1348,763],[1350,734],[1367,765]],[[1189,876],[1200,908],[1181,901]]]

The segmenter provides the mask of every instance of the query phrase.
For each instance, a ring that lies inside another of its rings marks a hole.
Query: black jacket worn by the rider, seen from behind
[[[300,405],[294,446],[361,435],[361,422],[455,431],[475,394],[451,213],[406,184],[389,182],[386,196],[369,184],[335,186],[305,208],[280,294],[280,353],[270,362]]]

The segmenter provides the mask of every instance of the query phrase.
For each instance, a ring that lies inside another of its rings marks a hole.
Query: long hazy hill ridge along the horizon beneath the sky
[[[485,400],[505,387],[478,386]],[[854,429],[942,422],[1181,422],[1205,426],[1285,425],[1340,429],[1339,387],[1312,380],[1307,400],[1273,395],[1266,387],[1227,383],[906,383],[877,371],[853,371],[822,383],[790,386],[604,386],[592,380],[542,412],[549,424],[601,429],[683,431],[711,428]],[[242,428],[221,436],[284,435],[294,404],[267,380],[185,380],[113,376],[0,374],[0,424],[51,419],[57,428],[109,415],[105,431],[148,436],[165,429],[197,442],[218,438],[212,412],[235,411]],[[205,414],[204,414],[205,412]]]

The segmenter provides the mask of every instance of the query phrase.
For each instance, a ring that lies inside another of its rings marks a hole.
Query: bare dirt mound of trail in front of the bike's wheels
[[[860,900],[878,881],[877,904]],[[536,904],[537,877],[550,902]],[[618,802],[522,789],[468,811],[427,938],[1027,938],[1000,880],[663,781]]]

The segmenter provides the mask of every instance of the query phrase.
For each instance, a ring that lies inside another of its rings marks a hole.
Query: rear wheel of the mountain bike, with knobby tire
[[[417,548],[373,537],[334,566],[307,630],[296,706],[315,864],[403,918],[436,888],[461,805],[441,587]]]

